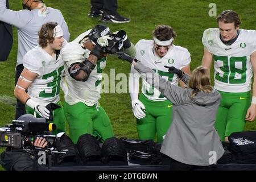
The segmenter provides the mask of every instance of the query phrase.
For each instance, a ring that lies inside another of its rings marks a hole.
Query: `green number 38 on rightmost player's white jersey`
[[[220,73],[217,73],[215,78],[218,81],[229,84],[243,84],[246,82],[246,56],[243,57],[230,57],[228,56],[216,56],[213,55],[214,61],[223,61],[223,67],[220,70],[224,72],[223,77]],[[242,69],[236,68],[236,63],[242,64]],[[241,74],[240,79],[235,79],[236,73]]]

